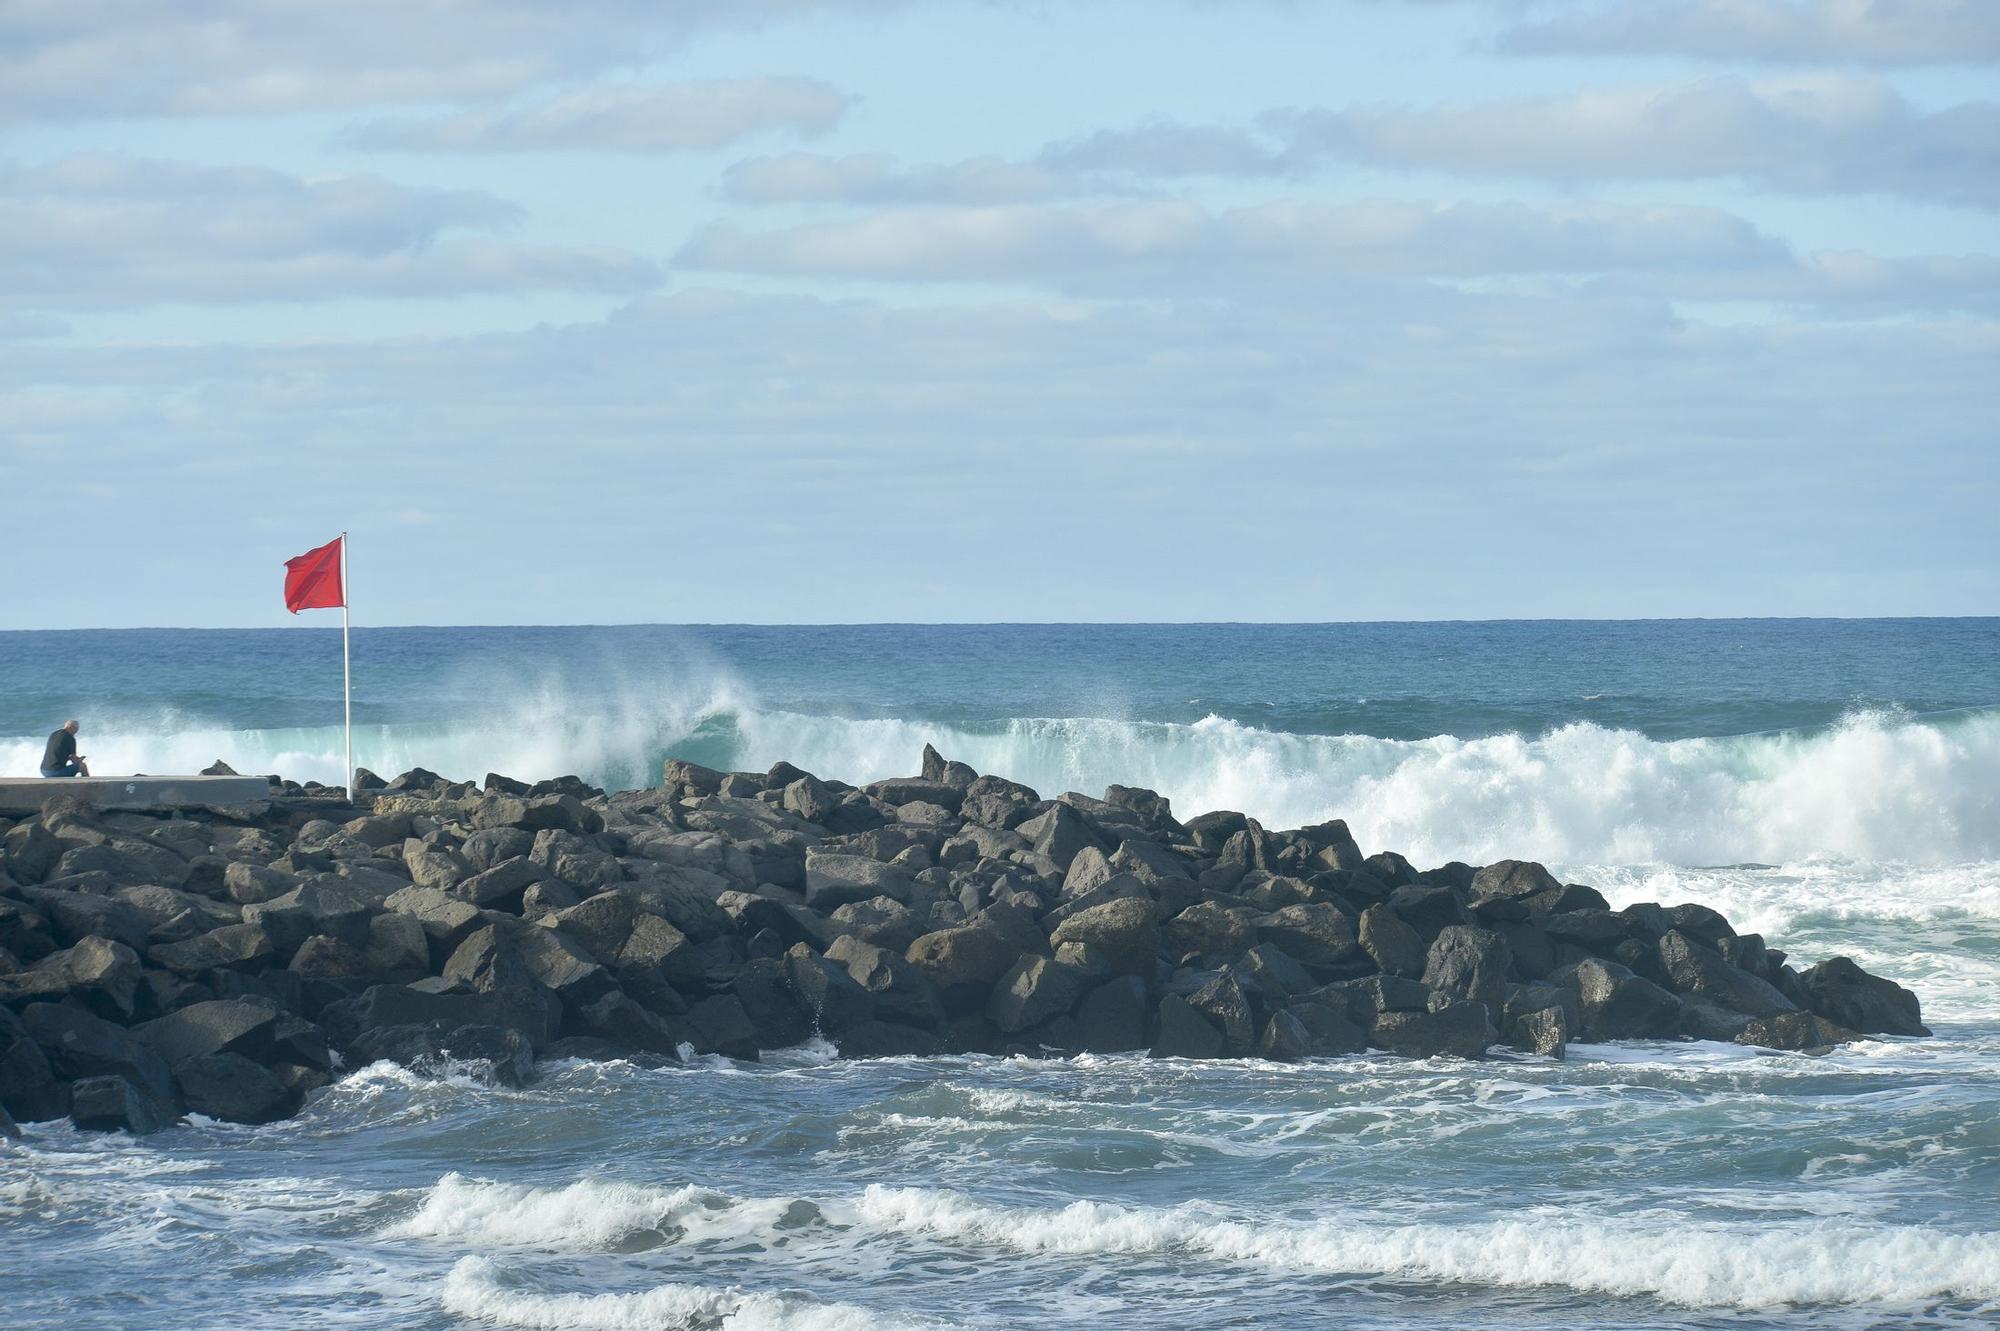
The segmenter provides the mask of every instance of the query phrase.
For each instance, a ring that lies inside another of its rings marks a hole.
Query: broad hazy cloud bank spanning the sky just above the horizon
[[[26,344],[0,358],[0,466],[116,540],[0,614],[262,614],[268,534],[158,540],[216,504],[352,526],[378,570],[480,552],[474,580],[378,578],[374,624],[514,622],[544,584],[584,622],[1858,614],[1826,600],[1846,572],[1900,580],[1870,608],[1948,612],[2000,586],[1996,356],[1968,320],[1718,328],[1422,284],[688,292],[478,338]],[[434,522],[400,522],[412,496]]]

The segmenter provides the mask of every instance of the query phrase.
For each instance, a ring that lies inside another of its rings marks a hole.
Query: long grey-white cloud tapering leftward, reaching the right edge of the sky
[[[2000,208],[2000,104],[1920,112],[1864,76],[1814,74],[1270,118],[1292,150],[1468,176],[1742,180]]]

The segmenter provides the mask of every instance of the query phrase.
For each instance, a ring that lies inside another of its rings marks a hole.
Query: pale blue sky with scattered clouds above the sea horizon
[[[1996,614],[1996,68],[1994,0],[0,0],[0,628],[286,624],[342,530],[356,624]]]

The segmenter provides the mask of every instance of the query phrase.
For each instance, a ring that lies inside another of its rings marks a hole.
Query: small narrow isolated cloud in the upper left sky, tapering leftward
[[[664,86],[580,88],[526,106],[380,120],[350,142],[402,152],[726,148],[756,134],[824,134],[854,102],[816,78],[718,78]]]

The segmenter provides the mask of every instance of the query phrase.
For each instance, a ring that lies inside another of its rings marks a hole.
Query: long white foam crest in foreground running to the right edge
[[[1478,1225],[1278,1225],[1096,1201],[1060,1211],[1002,1209],[940,1189],[880,1185],[862,1195],[860,1213],[882,1229],[1016,1253],[1188,1253],[1286,1271],[1560,1285],[1688,1307],[2000,1297],[2000,1235],[1914,1225],[1816,1221],[1780,1229],[1552,1215]]]

